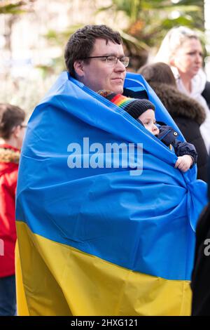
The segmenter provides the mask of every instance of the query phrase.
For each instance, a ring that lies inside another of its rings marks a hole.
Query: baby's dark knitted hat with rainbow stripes
[[[138,119],[141,114],[146,112],[148,109],[155,111],[155,105],[151,101],[146,99],[127,98],[122,94],[116,94],[112,91],[98,91],[99,95],[104,96],[107,100],[121,107],[127,113],[129,113],[134,119]]]

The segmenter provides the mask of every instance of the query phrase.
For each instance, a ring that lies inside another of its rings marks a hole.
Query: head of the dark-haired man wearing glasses
[[[78,29],[66,44],[64,57],[71,76],[92,91],[123,93],[129,58],[124,54],[119,32],[106,25]]]

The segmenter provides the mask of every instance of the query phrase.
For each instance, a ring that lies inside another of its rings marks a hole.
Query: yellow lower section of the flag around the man
[[[134,272],[16,225],[19,315],[190,315],[190,282]]]

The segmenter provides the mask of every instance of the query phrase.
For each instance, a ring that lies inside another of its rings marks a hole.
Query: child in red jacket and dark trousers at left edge
[[[0,316],[15,315],[15,190],[25,112],[0,103]]]

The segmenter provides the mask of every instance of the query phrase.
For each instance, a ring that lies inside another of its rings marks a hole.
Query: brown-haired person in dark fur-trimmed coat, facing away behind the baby
[[[200,133],[200,125],[205,119],[202,105],[178,90],[169,65],[162,62],[145,65],[140,68],[139,73],[165,105],[184,138],[195,145],[198,153],[197,178],[207,182],[208,154]]]

